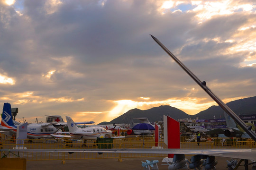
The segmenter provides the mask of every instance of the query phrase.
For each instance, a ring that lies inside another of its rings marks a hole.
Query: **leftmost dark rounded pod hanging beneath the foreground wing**
[[[173,162],[168,166],[168,170],[180,170],[187,165],[188,160],[184,154],[174,154]]]

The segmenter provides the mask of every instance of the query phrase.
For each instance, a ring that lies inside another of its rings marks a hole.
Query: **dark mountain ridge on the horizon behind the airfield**
[[[236,101],[228,102],[227,105],[237,115],[256,114],[256,96]],[[195,115],[189,115],[182,110],[172,106],[159,106],[148,110],[132,109],[110,122],[102,122],[100,124],[113,123],[130,123],[132,118],[147,117],[150,122],[162,121],[163,115],[170,116],[173,119],[199,118],[199,119],[215,119],[224,118],[224,110],[220,106],[211,106],[207,110],[203,110]],[[137,123],[136,121],[134,121]]]

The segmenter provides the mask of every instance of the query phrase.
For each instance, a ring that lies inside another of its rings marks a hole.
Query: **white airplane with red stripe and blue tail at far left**
[[[27,138],[52,137],[51,134],[61,131],[60,128],[53,126],[55,124],[56,123],[31,123],[27,125]],[[63,127],[63,125],[59,125],[58,127]],[[16,135],[17,133],[17,126],[12,120],[10,103],[4,103],[0,132],[9,136]]]

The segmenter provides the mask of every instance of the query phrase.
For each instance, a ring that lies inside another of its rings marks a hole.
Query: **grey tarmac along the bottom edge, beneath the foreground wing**
[[[186,156],[190,161],[191,156]],[[124,158],[122,162],[118,159],[83,159],[83,160],[65,160],[62,164],[61,160],[55,161],[27,161],[27,170],[144,170],[141,166],[141,161],[158,160],[157,163],[159,170],[168,170],[166,162],[162,162],[162,157],[146,157],[146,158]],[[227,170],[227,161],[230,158],[216,157],[218,164],[217,170]],[[238,160],[239,161],[239,160]],[[250,163],[251,161],[249,161]],[[245,170],[244,161],[238,170]],[[251,166],[249,166],[251,170]]]

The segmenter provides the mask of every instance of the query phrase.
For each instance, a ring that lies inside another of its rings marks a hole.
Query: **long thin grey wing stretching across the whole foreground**
[[[0,149],[1,152],[147,153],[210,155],[256,160],[256,149]]]

